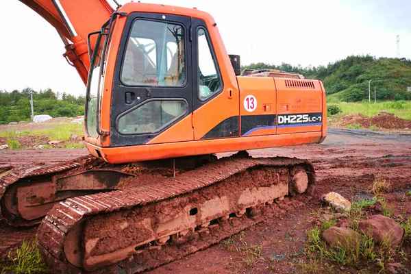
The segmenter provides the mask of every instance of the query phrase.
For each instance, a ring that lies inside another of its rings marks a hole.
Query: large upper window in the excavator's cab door
[[[121,69],[126,86],[184,86],[184,27],[138,19],[127,41]]]

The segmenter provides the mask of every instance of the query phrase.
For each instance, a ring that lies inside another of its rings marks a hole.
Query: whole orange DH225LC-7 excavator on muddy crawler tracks
[[[40,224],[53,273],[153,269],[312,190],[307,160],[245,151],[322,142],[321,81],[241,76],[240,56],[227,54],[214,18],[197,8],[20,1],[55,27],[86,84],[89,156],[0,168],[1,216]],[[223,152],[235,154],[216,157]]]

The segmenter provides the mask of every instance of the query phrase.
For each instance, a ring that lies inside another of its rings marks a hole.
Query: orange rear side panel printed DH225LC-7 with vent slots
[[[277,87],[277,134],[321,132],[321,82],[306,79],[274,79]]]

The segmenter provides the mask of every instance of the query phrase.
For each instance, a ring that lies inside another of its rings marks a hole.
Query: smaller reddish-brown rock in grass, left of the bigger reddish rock
[[[332,247],[353,249],[360,245],[361,236],[348,227],[329,227],[323,232],[323,239]]]

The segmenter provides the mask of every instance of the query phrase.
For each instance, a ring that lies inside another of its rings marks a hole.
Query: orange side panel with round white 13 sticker
[[[237,77],[241,136],[276,134],[276,92],[271,77]]]

